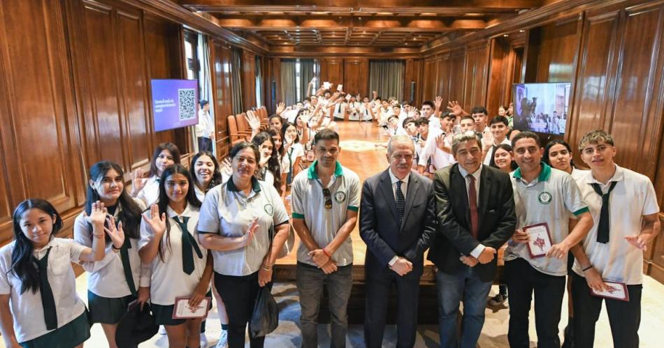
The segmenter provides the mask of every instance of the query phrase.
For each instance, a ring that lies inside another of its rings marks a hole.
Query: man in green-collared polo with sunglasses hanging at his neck
[[[302,347],[318,346],[318,311],[326,286],[331,312],[331,347],[345,347],[352,288],[353,247],[349,238],[357,222],[360,181],[338,162],[339,135],[321,130],[314,137],[317,160],[293,181],[293,227],[301,244],[297,287],[302,314]]]

